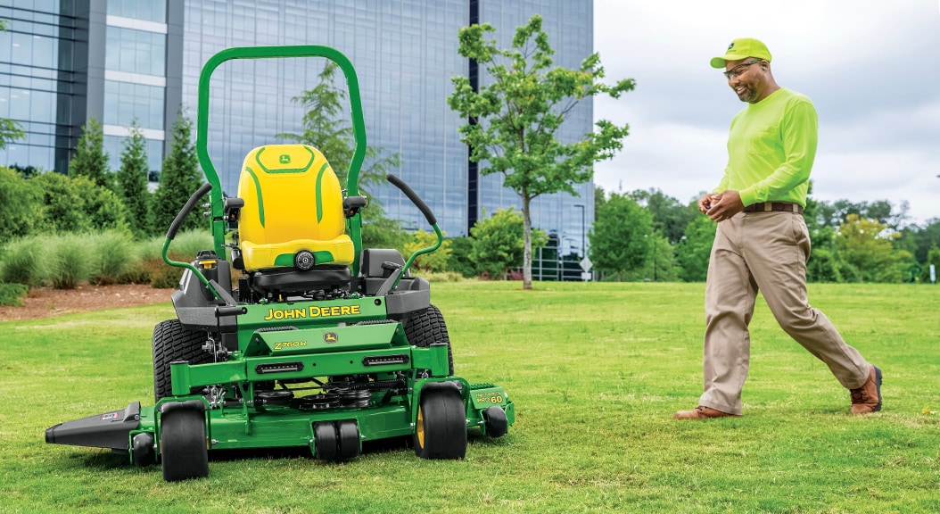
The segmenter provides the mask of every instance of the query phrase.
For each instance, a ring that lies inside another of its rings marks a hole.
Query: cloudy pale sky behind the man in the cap
[[[744,104],[709,60],[740,37],[762,40],[777,84],[816,106],[813,198],[940,217],[940,0],[594,0],[605,82],[636,81],[594,100],[595,120],[630,124],[595,185],[685,202],[718,184]]]

